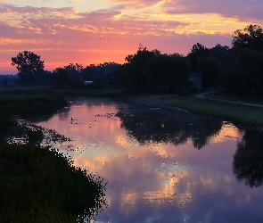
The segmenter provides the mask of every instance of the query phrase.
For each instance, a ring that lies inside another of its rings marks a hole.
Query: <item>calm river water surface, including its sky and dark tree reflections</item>
[[[263,222],[261,132],[94,100],[37,124],[72,138],[54,146],[108,182],[109,207],[94,222]]]

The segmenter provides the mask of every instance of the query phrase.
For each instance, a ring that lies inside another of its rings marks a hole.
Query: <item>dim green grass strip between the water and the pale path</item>
[[[225,98],[226,99],[226,98]],[[177,95],[160,95],[148,97],[136,97],[132,101],[136,103],[162,104],[183,108],[194,113],[210,115],[222,120],[233,121],[250,127],[263,125],[263,109],[251,106],[238,106],[237,103],[222,103],[218,101],[206,101],[194,96],[179,97]]]

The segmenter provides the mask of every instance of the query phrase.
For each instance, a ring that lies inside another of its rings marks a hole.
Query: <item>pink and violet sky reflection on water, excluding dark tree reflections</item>
[[[242,138],[233,125],[223,123],[200,150],[191,138],[141,144],[114,115],[123,104],[85,102],[39,124],[72,137],[75,164],[108,181],[109,210],[95,222],[263,222],[262,186],[249,188],[233,175]]]

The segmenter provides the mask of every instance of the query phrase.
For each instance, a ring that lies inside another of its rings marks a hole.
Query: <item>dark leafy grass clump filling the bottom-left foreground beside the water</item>
[[[61,153],[0,144],[0,222],[76,222],[103,205],[102,180]]]

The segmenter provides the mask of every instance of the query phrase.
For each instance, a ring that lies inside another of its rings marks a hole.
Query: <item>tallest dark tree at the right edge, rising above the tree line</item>
[[[250,25],[234,31],[234,93],[263,96],[263,31]]]

